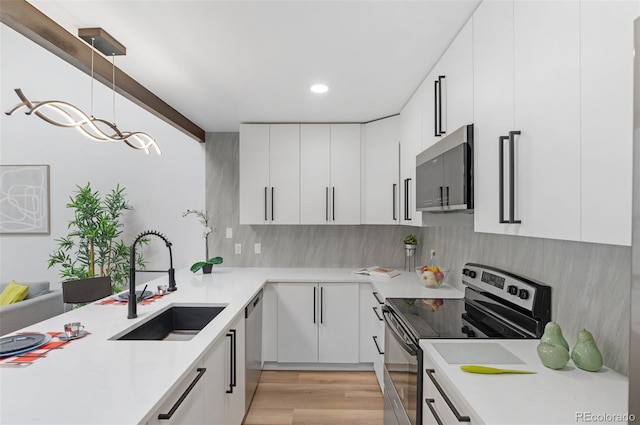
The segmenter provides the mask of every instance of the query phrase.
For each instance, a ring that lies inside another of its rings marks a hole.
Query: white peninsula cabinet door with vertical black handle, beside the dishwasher
[[[204,355],[204,421],[240,425],[245,414],[244,315],[240,314]]]

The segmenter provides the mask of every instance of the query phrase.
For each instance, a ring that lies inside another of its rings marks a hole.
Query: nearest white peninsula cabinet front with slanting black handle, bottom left
[[[207,371],[200,359],[173,393],[153,414],[147,425],[213,423],[204,416],[204,375]]]

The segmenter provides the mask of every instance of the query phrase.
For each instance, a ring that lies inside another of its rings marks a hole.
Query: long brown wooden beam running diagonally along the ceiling
[[[0,1],[0,22],[86,74],[91,74],[91,47],[26,0]],[[112,86],[112,66],[112,63],[101,54],[94,55],[94,77],[109,88]],[[198,142],[204,143],[203,129],[117,67],[115,81],[116,92]]]

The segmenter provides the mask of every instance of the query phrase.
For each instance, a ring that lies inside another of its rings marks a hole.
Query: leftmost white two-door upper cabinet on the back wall
[[[240,126],[240,224],[300,223],[300,126]]]

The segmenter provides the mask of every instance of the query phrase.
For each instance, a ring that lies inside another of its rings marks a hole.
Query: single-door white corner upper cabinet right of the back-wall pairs
[[[400,222],[400,119],[364,125],[363,224]]]

